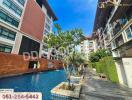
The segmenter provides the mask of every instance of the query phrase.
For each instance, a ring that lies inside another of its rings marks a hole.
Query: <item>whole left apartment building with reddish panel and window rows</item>
[[[0,0],[0,52],[37,51],[41,57],[43,38],[55,20],[47,0]]]

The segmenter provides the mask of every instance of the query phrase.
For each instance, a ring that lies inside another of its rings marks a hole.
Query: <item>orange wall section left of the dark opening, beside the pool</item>
[[[22,56],[0,53],[0,76],[28,71],[28,62]]]

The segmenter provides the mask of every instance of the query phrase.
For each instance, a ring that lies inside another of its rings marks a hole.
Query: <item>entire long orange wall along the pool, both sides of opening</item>
[[[39,59],[38,61],[40,64],[39,69],[29,69],[29,61],[25,61],[23,56],[0,53],[0,77],[62,68],[62,62],[58,60]],[[48,68],[49,62],[52,62],[52,68]]]

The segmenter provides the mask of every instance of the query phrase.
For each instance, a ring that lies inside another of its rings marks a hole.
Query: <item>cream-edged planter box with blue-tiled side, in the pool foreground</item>
[[[74,84],[75,89],[73,91],[64,90],[61,87],[63,85],[68,85],[67,82],[62,82],[57,85],[55,88],[51,90],[52,100],[71,100],[71,99],[79,99],[81,85]]]

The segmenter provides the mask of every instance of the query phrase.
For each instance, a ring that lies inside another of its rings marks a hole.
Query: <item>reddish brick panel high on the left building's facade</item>
[[[35,0],[27,0],[20,30],[42,40],[45,23],[45,14]]]

